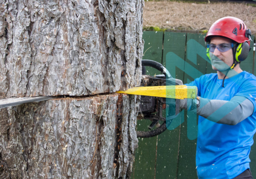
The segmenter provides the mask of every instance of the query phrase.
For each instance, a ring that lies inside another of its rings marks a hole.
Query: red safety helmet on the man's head
[[[236,17],[223,17],[215,21],[209,28],[205,37],[205,42],[209,42],[211,36],[218,35],[230,38],[238,43],[247,41],[250,45],[248,38],[249,31],[250,30],[247,30],[247,27],[242,20]]]

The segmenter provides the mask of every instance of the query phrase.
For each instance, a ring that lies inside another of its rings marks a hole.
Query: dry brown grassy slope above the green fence
[[[143,9],[143,26],[168,29],[208,30],[213,22],[225,16],[244,21],[256,34],[256,7],[246,3],[187,3],[146,1]]]

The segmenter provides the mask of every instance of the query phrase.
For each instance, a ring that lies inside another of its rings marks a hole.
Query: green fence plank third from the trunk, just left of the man
[[[204,34],[192,34],[187,33],[187,42],[189,40],[193,39],[199,44],[202,45],[202,47],[205,46],[204,42]],[[190,41],[194,42],[194,41]],[[194,58],[191,58],[191,51],[195,52],[194,54],[197,54],[198,47],[196,44],[193,45],[193,43],[187,43],[186,46],[186,59],[185,61],[193,66],[195,69],[199,71],[197,78],[200,77],[200,74],[206,73],[206,60],[202,58],[199,55],[194,56]],[[190,53],[190,54],[189,54]],[[201,52],[198,52],[200,55],[202,55]],[[189,55],[189,56],[188,56]],[[190,60],[189,60],[190,59]],[[191,61],[193,60],[193,62]],[[185,66],[185,74],[184,74],[184,83],[189,83],[190,81],[193,81],[194,79],[191,77],[192,74],[190,74],[189,69],[186,69]],[[193,76],[195,76],[195,73],[193,73]],[[183,178],[190,178],[190,179],[197,179],[197,172],[196,172],[196,166],[195,166],[195,153],[196,153],[196,143],[197,138],[194,140],[190,140],[188,138],[187,134],[187,120],[197,120],[197,115],[193,114],[191,112],[185,111],[185,118],[184,123],[181,125],[180,128],[180,146],[179,146],[179,156],[178,156],[178,179]]]

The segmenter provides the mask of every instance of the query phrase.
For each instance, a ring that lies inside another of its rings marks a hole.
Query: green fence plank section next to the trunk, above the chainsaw
[[[144,40],[144,55],[142,59],[154,60],[162,64],[162,47],[163,47],[163,32],[144,31],[142,38]],[[147,74],[154,76],[161,74],[160,71],[146,67]]]

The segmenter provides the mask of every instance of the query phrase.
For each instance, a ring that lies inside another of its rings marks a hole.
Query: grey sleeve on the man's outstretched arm
[[[244,96],[230,101],[200,98],[197,114],[220,124],[236,125],[254,112],[253,103]]]

